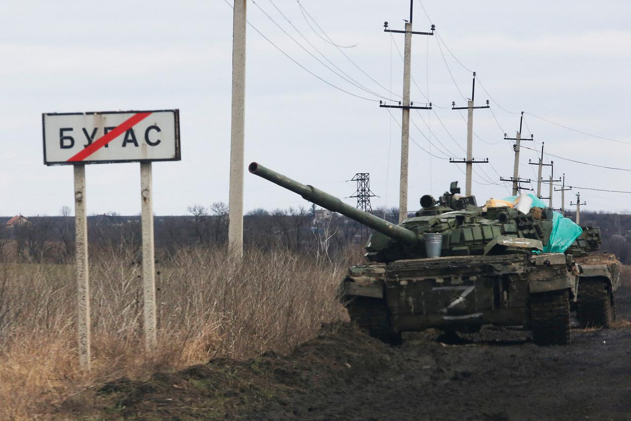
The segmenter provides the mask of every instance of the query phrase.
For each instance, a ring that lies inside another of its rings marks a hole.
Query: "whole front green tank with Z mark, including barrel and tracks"
[[[249,171],[374,229],[367,263],[349,269],[339,295],[375,338],[397,343],[406,331],[494,324],[528,327],[538,345],[569,342],[579,269],[572,255],[543,253],[551,209],[479,207],[454,182],[438,200],[423,196],[415,216],[396,225],[256,162]],[[440,256],[427,257],[426,240],[435,237]]]

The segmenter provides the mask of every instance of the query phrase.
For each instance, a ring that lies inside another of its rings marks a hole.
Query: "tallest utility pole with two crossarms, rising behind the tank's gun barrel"
[[[410,0],[410,21],[406,21],[405,30],[388,29],[388,23],[384,22],[384,32],[397,32],[405,34],[404,56],[403,56],[403,103],[399,102],[398,106],[383,104],[379,101],[380,107],[385,108],[401,108],[401,174],[399,180],[399,223],[408,217],[408,152],[410,150],[410,109],[432,109],[430,103],[428,107],[415,107],[410,102],[410,70],[412,55],[412,35],[433,35],[435,29],[432,25],[432,32],[413,32],[412,16],[413,16],[414,0]]]

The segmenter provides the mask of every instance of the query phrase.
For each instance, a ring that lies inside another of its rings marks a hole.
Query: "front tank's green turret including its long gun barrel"
[[[339,212],[374,229],[365,254],[366,259],[371,262],[427,257],[423,237],[426,233],[442,234],[442,256],[531,253],[534,250],[543,250],[552,226],[550,212],[540,212],[535,217],[509,207],[478,207],[475,197],[458,194],[460,189],[456,181],[451,183],[449,192],[441,195],[439,200],[430,195],[423,196],[420,200],[422,209],[415,216],[396,225],[345,204],[339,198],[314,186],[298,183],[257,162],[250,164],[249,171],[298,193],[314,204]]]

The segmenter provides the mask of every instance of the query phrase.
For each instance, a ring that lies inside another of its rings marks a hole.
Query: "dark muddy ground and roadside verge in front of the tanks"
[[[573,329],[569,346],[483,329],[454,343],[438,331],[386,346],[349,324],[289,356],[213,360],[146,382],[75,396],[59,418],[246,420],[631,419],[631,289],[614,329]]]

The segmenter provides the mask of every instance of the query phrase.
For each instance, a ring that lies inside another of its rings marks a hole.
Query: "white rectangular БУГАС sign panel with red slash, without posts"
[[[42,114],[44,164],[180,160],[179,110]]]

